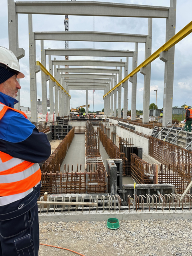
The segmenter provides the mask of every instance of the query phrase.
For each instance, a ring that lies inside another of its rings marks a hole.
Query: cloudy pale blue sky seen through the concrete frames
[[[34,0],[36,2],[36,0]],[[53,0],[54,1],[54,0]],[[78,1],[78,0],[76,0]],[[30,2],[25,0],[25,2]],[[43,1],[42,1],[43,2]],[[124,4],[143,4],[151,6],[170,6],[170,0],[105,0],[105,2],[116,2]],[[7,0],[0,0],[0,46],[9,48],[8,44],[8,13]],[[180,31],[192,20],[191,16],[192,0],[177,0],[176,8],[176,33]],[[33,15],[33,31],[64,31],[64,18],[62,15]],[[21,72],[25,78],[20,79],[20,104],[30,107],[30,83],[29,83],[29,45],[28,45],[28,15],[18,14],[19,47],[24,48],[25,57],[20,60]],[[126,34],[147,34],[148,18],[117,18],[117,17],[92,17],[92,16],[69,16],[69,31],[101,31]],[[152,21],[152,53],[165,43],[166,20],[153,18]],[[64,48],[64,41],[44,41],[44,48]],[[96,48],[112,50],[134,51],[134,43],[120,42],[69,42],[69,48]],[[192,34],[188,35],[175,46],[174,61],[174,92],[173,106],[180,107],[183,104],[192,105]],[[64,56],[52,56],[53,60],[64,59]],[[82,57],[69,56],[73,59],[94,59],[94,60],[114,60],[121,58],[110,57]],[[40,61],[40,41],[36,41],[36,60]],[[122,61],[126,61],[122,58]],[[138,44],[138,65],[144,61],[144,43]],[[47,56],[48,68],[48,56]],[[72,66],[70,66],[72,67]],[[132,71],[132,58],[129,58],[129,73]],[[124,74],[124,68],[122,69]],[[138,73],[137,76],[137,101],[136,109],[143,109],[143,82],[144,76]],[[157,58],[151,64],[151,86],[150,104],[156,101],[157,106],[163,107],[163,84],[164,84],[164,62]],[[128,109],[131,109],[131,83],[128,82]],[[47,83],[48,88],[48,83]],[[70,90],[70,106],[76,108],[86,104],[85,90]],[[104,108],[104,91],[88,91],[88,104],[90,111],[101,111]],[[49,97],[49,95],[48,95]],[[42,99],[41,93],[41,72],[37,73],[37,98]],[[123,99],[123,89],[122,89]],[[122,101],[123,107],[123,101]]]

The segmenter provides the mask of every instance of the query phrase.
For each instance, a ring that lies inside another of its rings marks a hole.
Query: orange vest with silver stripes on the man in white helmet
[[[8,109],[27,118],[20,110],[10,108],[0,102],[0,120]],[[41,180],[39,164],[15,158],[0,151],[0,197],[6,196],[7,202],[24,198]]]

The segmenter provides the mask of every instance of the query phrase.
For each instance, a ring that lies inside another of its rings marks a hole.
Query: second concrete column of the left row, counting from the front
[[[36,86],[36,47],[32,24],[32,14],[28,14],[29,21],[29,70],[30,70],[30,99],[31,121],[37,122],[37,86]]]

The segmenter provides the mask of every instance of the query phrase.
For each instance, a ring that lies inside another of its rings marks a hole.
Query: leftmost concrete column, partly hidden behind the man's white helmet
[[[23,48],[19,48],[18,44],[18,14],[16,13],[16,4],[14,0],[8,0],[8,31],[9,49],[15,54],[15,56],[19,60],[20,58],[25,56],[25,51]],[[14,108],[20,110],[20,90],[18,90],[16,99],[19,102],[14,105]]]

